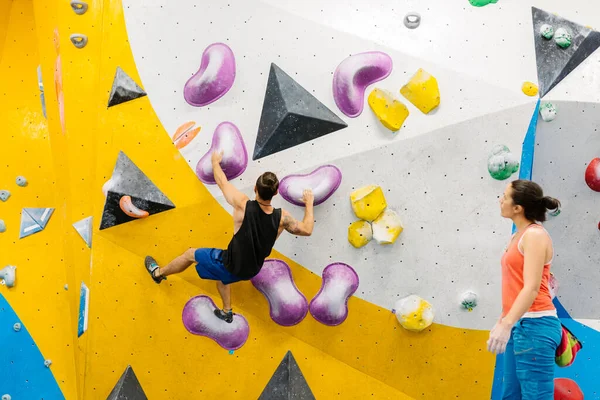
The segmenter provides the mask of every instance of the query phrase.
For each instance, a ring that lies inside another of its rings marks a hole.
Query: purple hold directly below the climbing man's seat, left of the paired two
[[[279,325],[296,325],[306,317],[308,301],[296,287],[285,262],[266,260],[251,282],[267,298],[271,318]]]

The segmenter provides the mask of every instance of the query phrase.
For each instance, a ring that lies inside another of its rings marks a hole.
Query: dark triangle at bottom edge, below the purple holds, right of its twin
[[[314,400],[308,383],[288,350],[258,400]]]

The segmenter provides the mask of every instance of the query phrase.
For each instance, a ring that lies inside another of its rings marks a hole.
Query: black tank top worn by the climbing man
[[[225,268],[242,279],[258,274],[275,245],[280,221],[281,208],[267,214],[256,200],[248,200],[242,226],[223,252]]]

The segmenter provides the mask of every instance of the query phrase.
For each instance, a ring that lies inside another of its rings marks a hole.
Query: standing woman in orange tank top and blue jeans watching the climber
[[[555,353],[562,328],[548,278],[554,255],[540,224],[560,202],[535,182],[516,180],[500,199],[501,215],[517,232],[502,256],[502,316],[490,332],[488,350],[504,355],[502,399],[552,400]]]

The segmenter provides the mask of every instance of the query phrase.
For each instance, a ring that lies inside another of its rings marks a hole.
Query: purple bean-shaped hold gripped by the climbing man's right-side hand
[[[302,192],[312,189],[317,206],[331,197],[341,183],[342,171],[334,165],[323,165],[310,174],[286,176],[279,182],[279,193],[290,203],[304,206]]]

